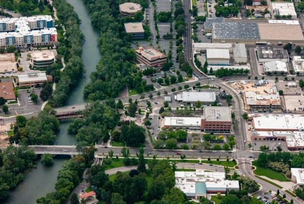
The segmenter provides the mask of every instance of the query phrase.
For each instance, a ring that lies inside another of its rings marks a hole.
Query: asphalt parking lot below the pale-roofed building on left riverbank
[[[38,104],[35,105],[34,103],[30,103],[28,100],[28,96],[30,95],[30,93],[27,92],[33,92],[36,93],[38,95]],[[36,112],[36,111],[40,111],[40,107],[42,105],[42,101],[39,97],[40,95],[40,89],[34,89],[34,90],[18,90],[18,101],[19,101],[19,105],[18,104],[10,104],[9,108],[10,111],[13,112],[13,114],[25,114],[25,113],[30,113],[30,112]]]

